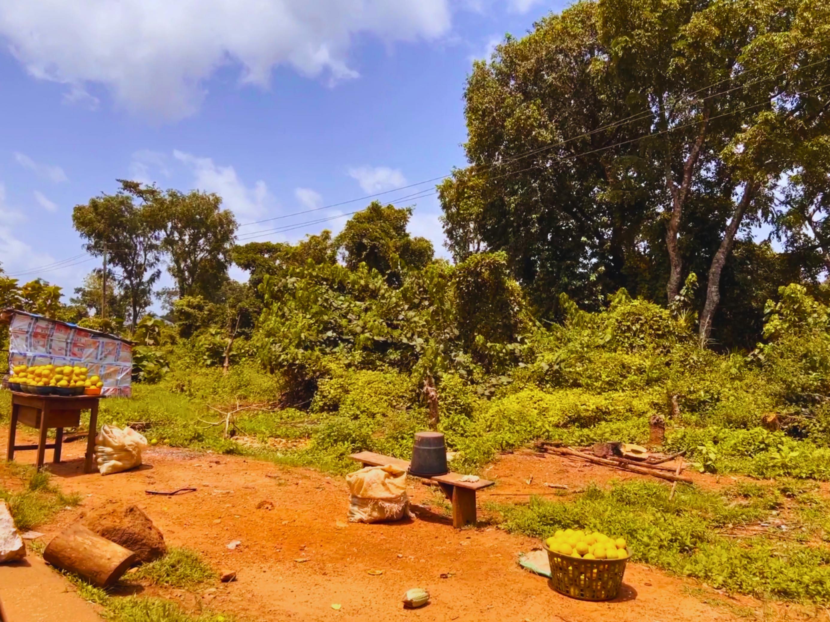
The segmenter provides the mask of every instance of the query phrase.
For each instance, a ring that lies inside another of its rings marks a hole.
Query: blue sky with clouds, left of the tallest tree
[[[72,207],[116,177],[217,192],[241,223],[349,201],[464,164],[462,89],[542,0],[4,0],[0,264],[65,293]],[[432,185],[384,195],[403,197]],[[434,196],[410,230],[442,248]],[[338,231],[367,202],[243,226]],[[43,268],[46,266],[46,268]],[[237,275],[242,277],[242,275]],[[165,278],[166,279],[166,278]],[[168,279],[166,279],[168,280]]]

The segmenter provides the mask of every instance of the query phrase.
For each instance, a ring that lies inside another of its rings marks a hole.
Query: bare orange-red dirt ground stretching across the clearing
[[[4,437],[2,430],[3,445]],[[154,448],[146,452],[139,470],[85,475],[81,474],[82,451],[80,442],[65,445],[66,462],[51,466],[61,488],[81,493],[84,501],[81,508],[62,512],[50,525],[39,527],[46,532],[45,540],[74,521],[84,508],[94,508],[110,498],[135,503],[164,532],[168,544],[202,552],[219,570],[237,571],[238,581],[204,586],[198,595],[183,590],[144,590],[178,599],[191,609],[207,605],[244,620],[373,622],[702,622],[740,620],[738,606],[755,610],[764,620],[769,616],[806,620],[818,615],[794,605],[764,608],[758,601],[731,598],[696,581],[633,563],[627,566],[617,600],[589,603],[569,599],[551,590],[543,578],[517,566],[518,553],[538,546],[537,542],[494,527],[454,530],[432,491],[417,480],[411,480],[409,489],[417,504],[413,520],[349,524],[344,479],[314,470]],[[33,457],[33,452],[24,452],[17,459],[25,463]],[[526,484],[531,475],[530,485]],[[504,456],[488,469],[486,477],[498,484],[480,493],[480,504],[525,499],[503,493],[549,493],[545,482],[574,488],[593,480],[640,476],[553,455],[539,458],[525,453]],[[172,498],[144,492],[186,486],[198,491]],[[273,503],[273,509],[257,509],[262,501]],[[432,510],[425,507],[427,504]],[[227,543],[234,540],[242,543],[228,550]],[[374,570],[383,574],[369,575]],[[403,610],[401,598],[412,587],[429,590],[431,603],[420,610]],[[334,604],[341,605],[340,609],[334,610]]]

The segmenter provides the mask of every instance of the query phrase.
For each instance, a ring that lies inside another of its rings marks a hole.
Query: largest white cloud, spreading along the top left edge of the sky
[[[511,0],[527,2],[528,0]],[[220,67],[267,86],[276,66],[344,80],[358,75],[359,36],[434,40],[452,0],[3,0],[0,37],[30,75],[95,103],[104,85],[127,109],[161,119],[193,114]]]

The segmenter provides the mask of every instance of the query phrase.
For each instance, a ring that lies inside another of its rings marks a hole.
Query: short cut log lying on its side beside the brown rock
[[[76,522],[52,538],[43,559],[95,587],[109,587],[134,564],[135,553]]]

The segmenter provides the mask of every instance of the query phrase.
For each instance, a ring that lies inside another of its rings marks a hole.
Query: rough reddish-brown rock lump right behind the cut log
[[[81,522],[99,536],[134,552],[139,563],[167,553],[162,532],[137,506],[110,501],[92,510]]]

